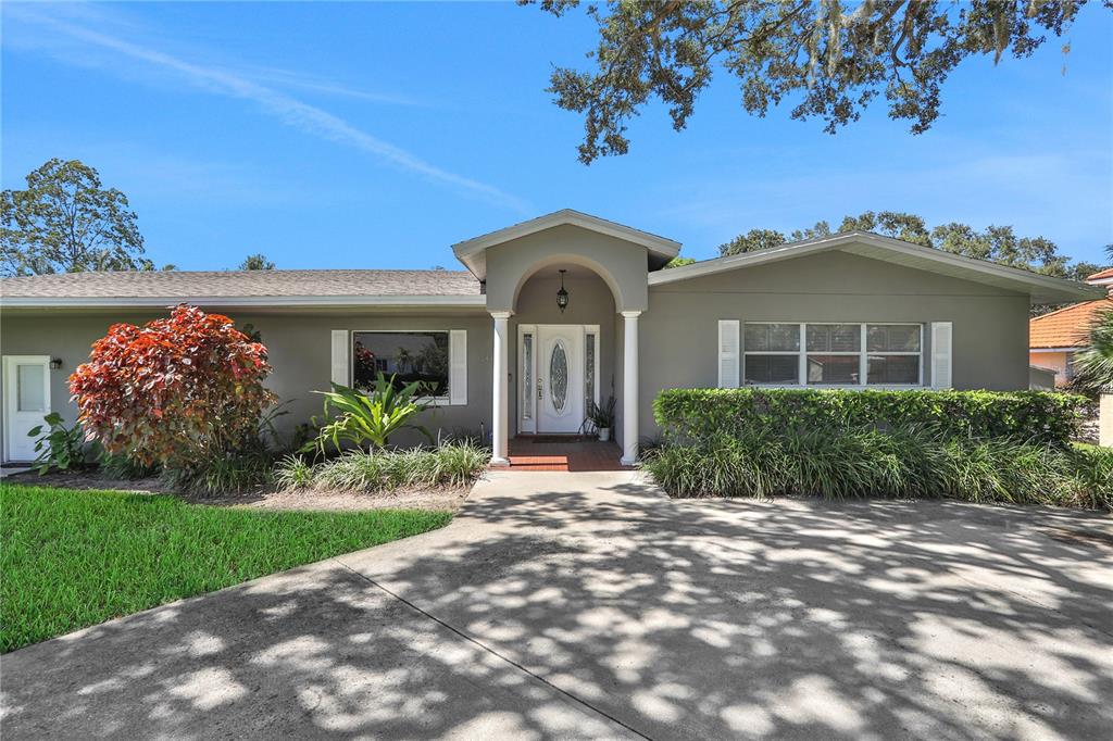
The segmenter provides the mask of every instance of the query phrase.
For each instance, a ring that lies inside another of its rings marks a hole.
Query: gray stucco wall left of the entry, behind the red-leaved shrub
[[[322,412],[323,399],[313,394],[327,389],[331,376],[331,332],[333,329],[466,329],[467,404],[441,406],[423,415],[422,423],[434,435],[437,429],[491,431],[491,318],[486,314],[456,316],[401,316],[397,314],[227,314],[243,325],[250,323],[262,333],[274,373],[267,385],[282,401],[289,401],[289,414],[277,421],[283,432],[308,422]],[[115,322],[144,323],[166,313],[56,314],[0,317],[0,352],[3,355],[49,355],[61,358],[62,367],[50,372],[50,398],[55,411],[67,421],[77,409],[69,403],[67,378],[89,355],[93,340],[102,337]],[[2,435],[2,428],[0,428]],[[414,435],[400,436],[400,444],[418,442]],[[0,438],[2,443],[2,438]],[[0,449],[3,449],[0,446]]]

